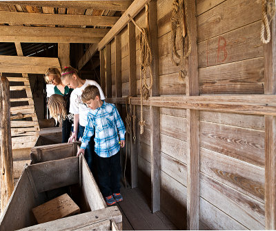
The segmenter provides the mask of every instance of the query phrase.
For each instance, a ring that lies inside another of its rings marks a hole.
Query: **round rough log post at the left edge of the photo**
[[[1,212],[13,191],[12,137],[10,132],[10,83],[1,77]]]

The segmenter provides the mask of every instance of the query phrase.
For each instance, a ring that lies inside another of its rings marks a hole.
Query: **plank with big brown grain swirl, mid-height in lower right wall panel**
[[[264,203],[264,168],[205,148],[200,154],[201,172]]]

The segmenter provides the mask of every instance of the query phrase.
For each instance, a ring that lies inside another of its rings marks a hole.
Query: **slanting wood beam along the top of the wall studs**
[[[105,37],[99,42],[99,50],[103,49],[104,46],[106,46],[107,43],[109,43],[119,32],[128,24],[130,21],[130,18],[128,17],[128,14],[130,17],[134,18],[145,6],[146,3],[148,3],[150,0],[135,0],[132,2],[128,10],[124,12],[124,14],[121,16],[121,18],[115,23],[114,26],[110,29],[110,31],[106,34]]]

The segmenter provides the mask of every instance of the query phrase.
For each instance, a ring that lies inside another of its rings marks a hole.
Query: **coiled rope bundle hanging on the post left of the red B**
[[[172,2],[172,17],[170,18],[171,22],[171,47],[172,47],[172,62],[175,66],[179,66],[180,63],[184,63],[184,60],[188,58],[191,52],[191,41],[190,41],[190,24],[187,16],[186,5],[180,0],[175,0]],[[186,25],[187,24],[187,25]],[[177,37],[177,28],[182,30],[182,36],[180,37],[180,54],[177,52],[176,48],[176,37]],[[187,30],[186,30],[187,28]],[[187,31],[187,33],[186,33]],[[185,37],[188,36],[188,51],[185,54]],[[178,60],[176,60],[178,59]],[[185,81],[187,77],[186,70],[179,71],[179,80]]]

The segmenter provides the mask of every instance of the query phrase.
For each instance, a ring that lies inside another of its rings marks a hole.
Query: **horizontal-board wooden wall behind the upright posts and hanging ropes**
[[[196,0],[199,95],[264,94],[264,45],[259,39],[262,6],[255,0]],[[185,96],[181,67],[171,61],[172,1],[157,0],[159,94]],[[135,17],[141,27],[145,10]],[[139,30],[136,79],[139,95]],[[128,27],[121,32],[121,91],[128,96]],[[177,47],[179,41],[177,39]],[[111,41],[112,97],[115,41]],[[188,65],[188,64],[187,64]],[[193,63],[189,63],[193,65]],[[137,106],[139,120],[140,107]],[[138,134],[138,185],[150,197],[150,107]],[[187,218],[187,118],[185,109],[160,108],[161,210],[180,229]],[[265,228],[265,123],[263,115],[199,111],[199,228]]]

